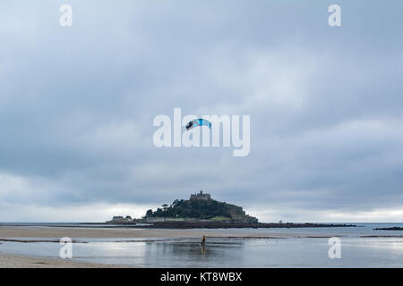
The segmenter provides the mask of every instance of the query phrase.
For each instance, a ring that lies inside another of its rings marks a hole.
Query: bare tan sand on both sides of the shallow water
[[[208,230],[151,230],[151,229],[97,229],[70,227],[0,227],[0,243],[17,240],[29,243],[34,240],[58,242],[60,238],[93,239],[93,238],[201,238],[207,237],[244,237],[250,236],[243,231],[208,231]],[[279,234],[279,237],[284,236]],[[253,233],[253,237],[267,238],[267,234]],[[64,259],[48,259],[41,257],[22,257],[0,253],[0,268],[111,268],[125,267],[124,265],[102,265],[83,263]]]

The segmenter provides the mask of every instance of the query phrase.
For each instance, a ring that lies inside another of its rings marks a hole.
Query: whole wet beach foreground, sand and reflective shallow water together
[[[203,236],[207,238],[207,250],[198,243]],[[365,248],[364,255],[368,258],[363,260],[363,265],[378,265],[379,257],[373,256],[373,249],[382,251],[382,259],[389,259],[389,265],[400,265],[399,258],[394,257],[399,257],[401,244],[397,239],[401,239],[402,234],[373,231],[372,225],[287,230],[9,225],[0,226],[0,267],[196,267],[201,262],[207,267],[226,264],[261,267],[296,265],[295,259],[302,259],[297,265],[322,266],[330,265],[327,238],[334,236],[343,241],[345,253],[355,252],[360,257],[363,255],[360,249]],[[59,242],[64,237],[71,238],[74,251],[78,251],[74,252],[78,255],[74,255],[73,260],[58,257]],[[378,247],[380,243],[382,248]],[[207,255],[203,250],[207,251]],[[313,258],[306,262],[307,257]],[[184,261],[187,262],[184,264]],[[256,262],[251,265],[251,261]],[[355,260],[345,261],[341,265],[336,265],[334,261],[331,263],[336,266],[356,265]]]

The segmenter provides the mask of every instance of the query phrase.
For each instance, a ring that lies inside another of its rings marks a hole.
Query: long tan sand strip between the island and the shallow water
[[[342,228],[340,228],[341,230]],[[48,226],[0,226],[0,243],[2,241],[15,242],[58,242],[61,238],[68,237],[73,242],[77,239],[287,239],[287,238],[317,238],[315,231],[301,233],[298,229],[290,228],[287,231],[270,229],[150,229],[150,228],[90,228],[90,227],[48,227]],[[306,228],[305,228],[306,230]],[[333,236],[346,236],[343,231],[328,232],[326,228],[319,235],[322,238]],[[396,232],[395,232],[396,233]],[[399,237],[402,235],[386,233],[362,233],[358,237]],[[32,239],[35,240],[32,240]]]

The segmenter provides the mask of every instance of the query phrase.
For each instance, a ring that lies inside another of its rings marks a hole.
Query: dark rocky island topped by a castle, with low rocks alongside
[[[169,206],[164,204],[155,211],[149,209],[141,219],[132,219],[130,215],[114,216],[107,224],[170,229],[356,226],[330,223],[259,223],[256,217],[246,214],[242,206],[219,202],[202,191],[192,194],[187,200],[176,199]]]

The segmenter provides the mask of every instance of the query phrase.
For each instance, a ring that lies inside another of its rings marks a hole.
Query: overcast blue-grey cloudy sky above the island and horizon
[[[402,9],[2,0],[0,221],[140,217],[203,189],[263,222],[402,222]],[[251,115],[249,156],[155,147],[174,107]]]

